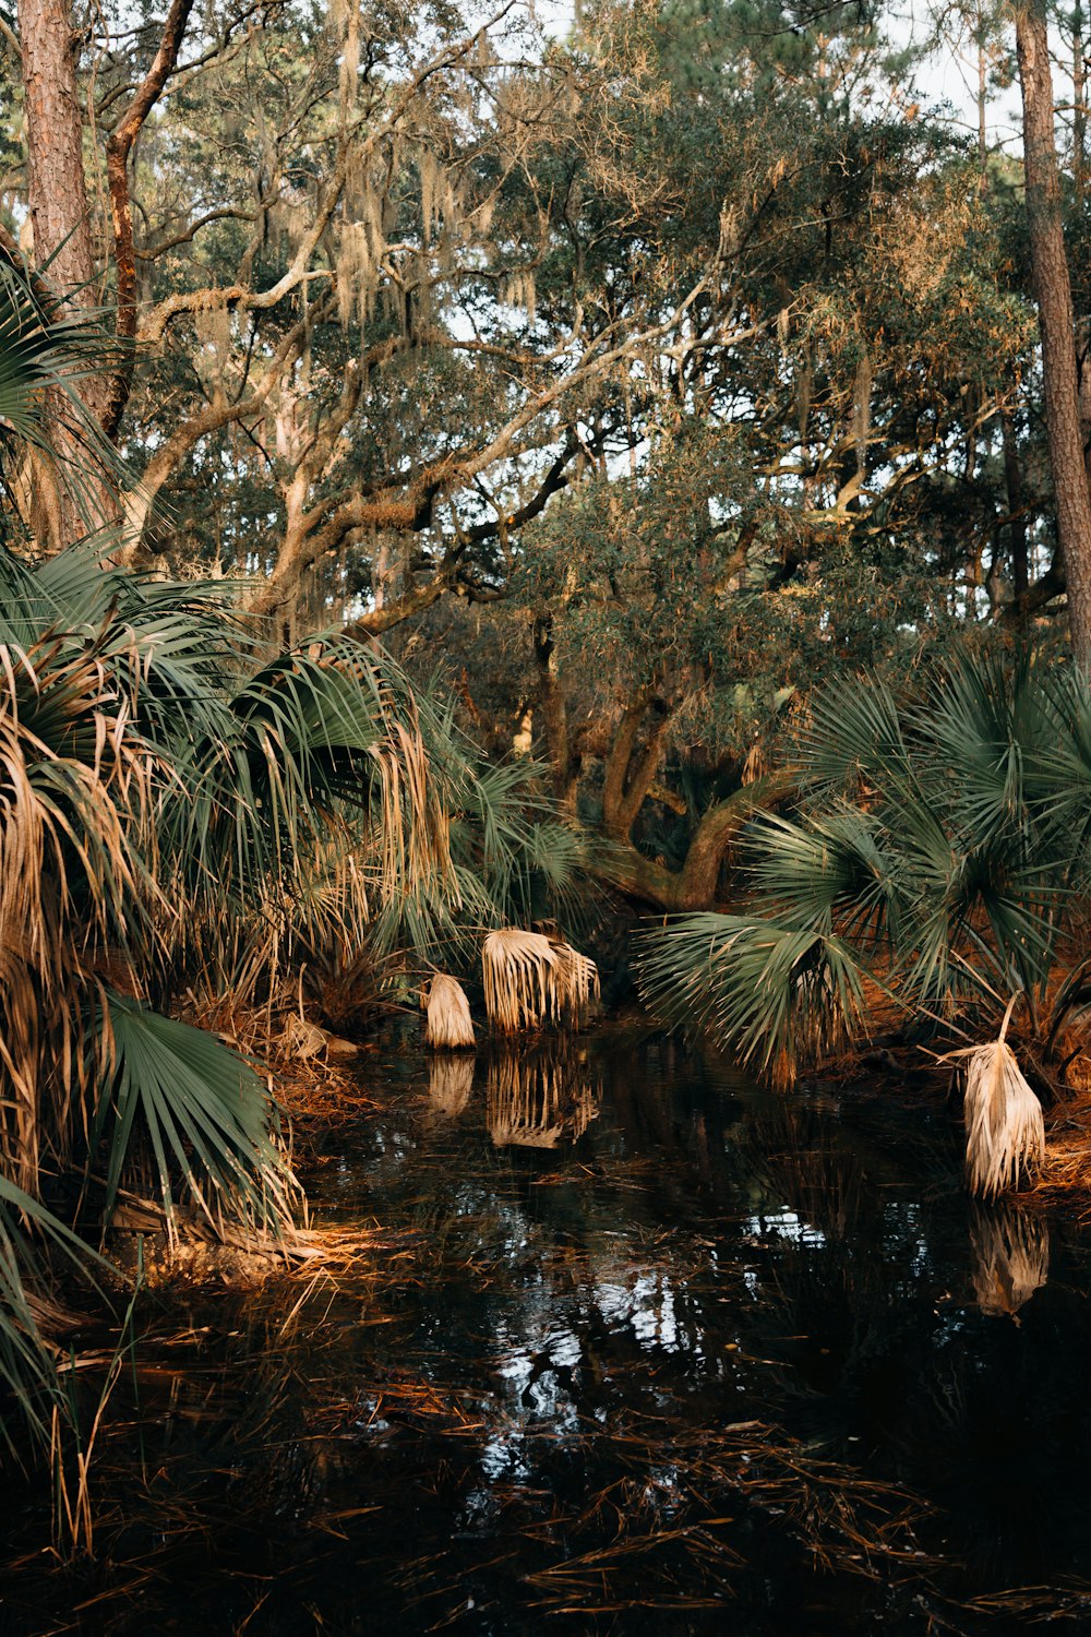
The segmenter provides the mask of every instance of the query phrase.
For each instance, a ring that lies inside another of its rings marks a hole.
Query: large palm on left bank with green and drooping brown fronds
[[[49,455],[44,395],[95,363],[2,273],[0,504]],[[0,1375],[28,1411],[57,1396],[29,1226],[88,1265],[72,1229],[129,1184],[172,1233],[183,1206],[290,1231],[265,1082],[178,997],[272,1005],[304,959],[465,949],[572,858],[533,773],[483,766],[389,658],[337,634],[268,652],[222,583],[141,579],[105,545],[0,542]]]

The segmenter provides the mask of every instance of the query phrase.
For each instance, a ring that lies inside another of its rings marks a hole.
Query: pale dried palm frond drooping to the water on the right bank
[[[944,1061],[965,1058],[967,1185],[991,1200],[1014,1188],[1045,1159],[1042,1103],[1022,1077],[1004,1036],[1017,995],[1008,1003],[999,1036],[988,1046],[965,1046]]]

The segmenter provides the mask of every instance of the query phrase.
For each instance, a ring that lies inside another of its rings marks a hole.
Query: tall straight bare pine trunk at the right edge
[[[1029,0],[1016,11],[1016,47],[1022,90],[1027,228],[1042,332],[1045,431],[1057,501],[1057,540],[1068,584],[1073,653],[1084,670],[1091,670],[1091,493],[1080,434],[1076,339],[1053,138],[1053,83],[1044,0]]]

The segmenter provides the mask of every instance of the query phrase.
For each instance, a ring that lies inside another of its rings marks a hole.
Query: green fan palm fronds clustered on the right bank
[[[903,697],[828,689],[800,814],[751,828],[752,915],[649,935],[646,994],[782,1080],[860,1033],[864,974],[937,1025],[1012,990],[1039,1017],[1080,946],[1089,727],[1086,678],[1048,652],[967,653]]]

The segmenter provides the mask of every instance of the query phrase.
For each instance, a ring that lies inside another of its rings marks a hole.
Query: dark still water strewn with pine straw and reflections
[[[13,1506],[0,1632],[1091,1630],[1091,1236],[968,1206],[942,1112],[656,1041],[366,1080],[308,1180],[370,1254],[146,1298],[98,1562]]]

